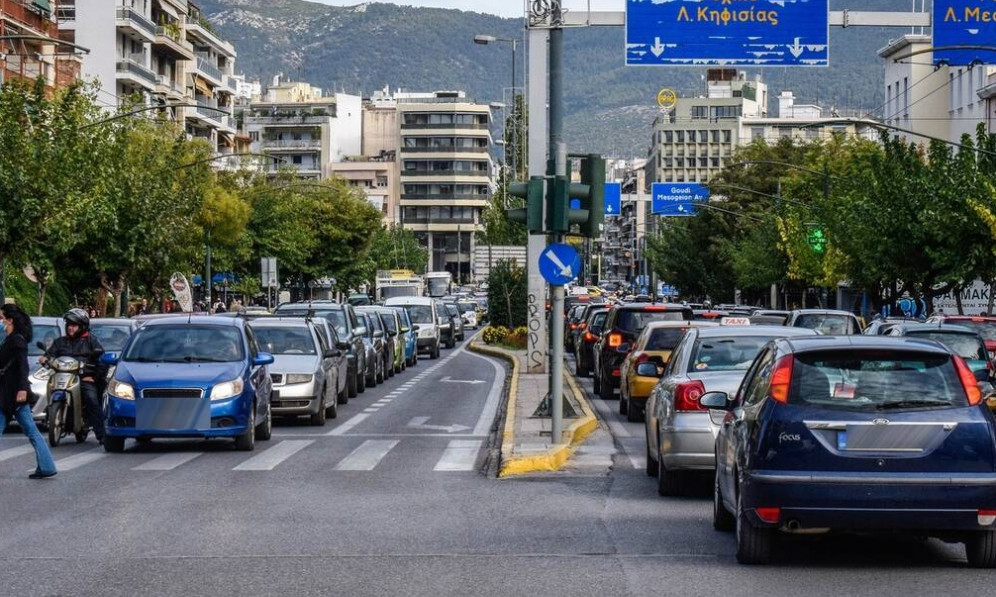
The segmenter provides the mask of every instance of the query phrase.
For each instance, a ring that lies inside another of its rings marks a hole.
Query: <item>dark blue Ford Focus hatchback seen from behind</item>
[[[764,564],[781,533],[909,532],[963,542],[996,567],[996,438],[979,377],[927,340],[840,336],[767,344],[723,417],[713,526]],[[725,411],[722,412],[722,411]]]

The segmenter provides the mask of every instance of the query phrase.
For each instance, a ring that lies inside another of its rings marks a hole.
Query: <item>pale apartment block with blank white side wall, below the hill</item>
[[[359,96],[325,96],[318,87],[279,76],[245,112],[252,152],[272,158],[265,170],[276,174],[290,167],[305,179],[324,179],[331,163],[359,155],[362,127]]]

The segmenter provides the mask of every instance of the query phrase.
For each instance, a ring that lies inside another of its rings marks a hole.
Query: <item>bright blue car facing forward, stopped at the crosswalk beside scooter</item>
[[[105,393],[104,449],[125,439],[231,437],[252,450],[270,439],[273,355],[260,352],[241,318],[169,317],[137,329],[114,366]]]

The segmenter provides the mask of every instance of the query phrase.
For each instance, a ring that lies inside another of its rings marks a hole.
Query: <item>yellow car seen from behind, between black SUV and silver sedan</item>
[[[716,327],[713,321],[655,321],[647,324],[619,366],[619,414],[643,420],[650,391],[657,385],[671,351],[691,327]]]

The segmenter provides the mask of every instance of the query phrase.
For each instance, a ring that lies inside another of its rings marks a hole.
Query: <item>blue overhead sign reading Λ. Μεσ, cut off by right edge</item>
[[[996,3],[986,0],[934,0],[934,48],[992,47],[996,39]],[[966,66],[996,63],[996,51],[985,48],[934,50],[934,65]]]

